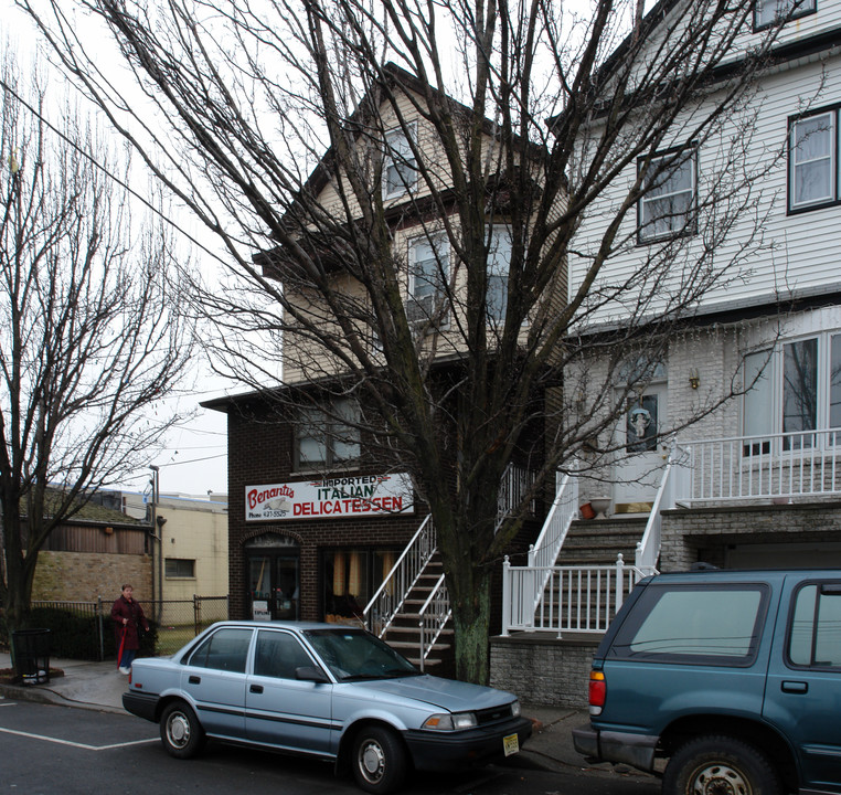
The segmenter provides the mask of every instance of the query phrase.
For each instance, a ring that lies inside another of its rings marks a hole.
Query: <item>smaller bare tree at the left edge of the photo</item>
[[[168,235],[139,225],[92,162],[114,168],[107,138],[24,82],[8,47],[0,75],[0,602],[13,630],[50,533],[155,454],[173,422],[155,412],[190,342]],[[49,126],[45,106],[63,121]]]

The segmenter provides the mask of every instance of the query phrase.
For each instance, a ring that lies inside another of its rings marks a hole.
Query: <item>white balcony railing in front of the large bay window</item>
[[[678,502],[841,494],[841,430],[681,442]]]

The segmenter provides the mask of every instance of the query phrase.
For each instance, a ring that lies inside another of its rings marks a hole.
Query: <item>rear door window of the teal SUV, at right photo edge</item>
[[[798,589],[788,659],[798,667],[841,667],[841,583],[805,583]]]

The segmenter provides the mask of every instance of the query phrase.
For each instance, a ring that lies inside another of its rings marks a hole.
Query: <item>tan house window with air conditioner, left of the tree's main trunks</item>
[[[434,322],[444,326],[447,312],[443,310],[449,280],[449,245],[443,235],[416,237],[408,244],[408,301],[406,317],[409,322]]]

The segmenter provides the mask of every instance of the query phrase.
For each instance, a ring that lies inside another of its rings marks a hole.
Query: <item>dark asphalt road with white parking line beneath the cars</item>
[[[170,757],[158,727],[131,716],[0,700],[0,795],[149,795],[360,791],[332,765],[209,743],[194,760]],[[513,764],[415,774],[405,795],[659,795],[639,777],[551,773]]]

